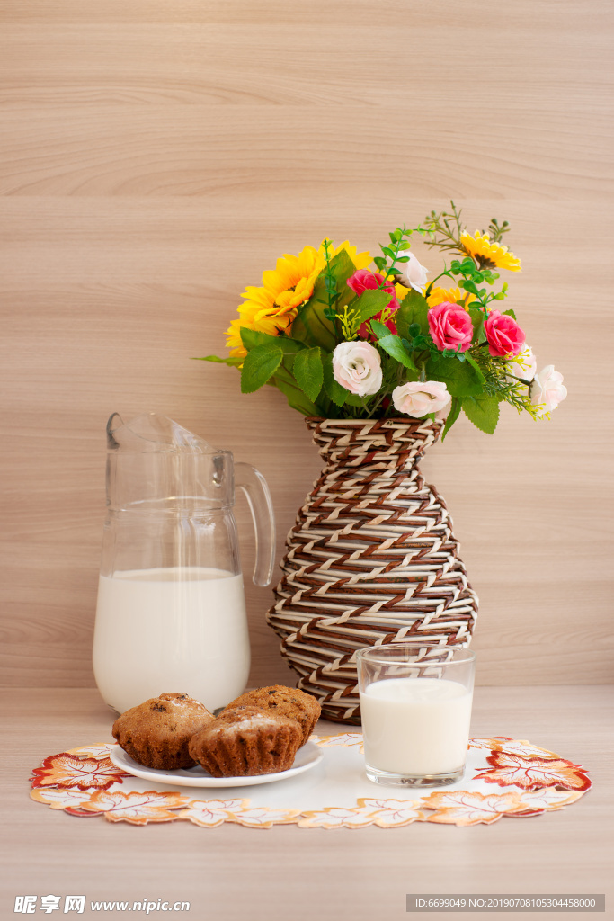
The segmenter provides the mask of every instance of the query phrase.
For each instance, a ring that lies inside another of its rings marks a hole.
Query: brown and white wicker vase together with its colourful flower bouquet
[[[248,287],[228,330],[241,390],[271,384],[307,416],[325,466],[286,542],[268,623],[322,715],[360,721],[356,650],[419,638],[464,646],[478,599],[441,495],[418,461],[462,411],[492,433],[502,402],[534,419],[566,391],[536,360],[499,272],[520,261],[492,220],[473,236],[449,212],[397,227],[373,261],[324,239]],[[423,238],[447,262],[429,282]],[[373,264],[372,264],[373,263]]]

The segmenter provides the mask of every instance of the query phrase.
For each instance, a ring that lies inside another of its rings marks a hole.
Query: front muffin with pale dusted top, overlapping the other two
[[[190,754],[214,777],[275,774],[292,767],[301,740],[295,719],[258,706],[237,706],[192,737]]]

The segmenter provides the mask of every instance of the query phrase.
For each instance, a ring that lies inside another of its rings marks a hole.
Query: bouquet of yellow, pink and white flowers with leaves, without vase
[[[514,310],[498,309],[507,283],[497,285],[497,270],[520,271],[501,242],[508,223],[493,218],[471,236],[460,216],[452,202],[397,227],[373,260],[330,239],[284,255],[243,293],[230,355],[202,360],[239,367],[244,393],[272,384],[307,416],[436,415],[443,437],[461,411],[492,433],[502,402],[550,417],[567,393],[562,375],[552,365],[537,373]],[[416,234],[451,257],[431,282],[411,252]]]

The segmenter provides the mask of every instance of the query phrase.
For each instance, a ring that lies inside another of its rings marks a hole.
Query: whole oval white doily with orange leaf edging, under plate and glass
[[[235,822],[247,828],[293,824],[299,828],[400,828],[411,822],[478,825],[504,816],[524,819],[560,810],[590,789],[585,769],[527,740],[495,736],[469,740],[462,780],[422,796],[366,779],[360,732],[312,736],[326,751],[313,771],[276,784],[225,789],[210,799],[206,787],[181,792],[126,774],[110,761],[113,744],[84,745],[50,755],[30,778],[30,797],[73,816],[110,822],[193,822],[216,828]],[[194,795],[196,794],[196,795]]]

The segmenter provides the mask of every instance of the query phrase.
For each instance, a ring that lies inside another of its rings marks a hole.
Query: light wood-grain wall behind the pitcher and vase
[[[424,461],[481,596],[481,683],[612,680],[612,7],[0,0],[3,682],[93,685],[104,426],[168,414],[255,464],[281,557],[319,471],[239,393],[238,295],[326,234],[375,251],[454,198],[512,224],[512,298],[569,397]],[[435,253],[418,251],[434,270]],[[243,561],[253,548],[237,508]],[[248,588],[251,681],[291,673]]]

